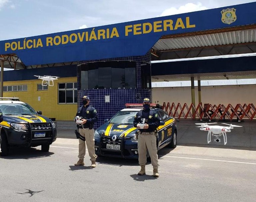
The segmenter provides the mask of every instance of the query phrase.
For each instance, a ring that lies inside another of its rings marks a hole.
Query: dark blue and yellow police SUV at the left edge
[[[11,146],[37,147],[49,151],[57,138],[55,123],[42,116],[19,98],[1,98],[0,110],[3,114],[1,125],[1,155],[8,155]]]

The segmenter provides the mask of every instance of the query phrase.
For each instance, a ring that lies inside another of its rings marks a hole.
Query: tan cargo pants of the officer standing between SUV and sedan
[[[89,129],[89,128],[79,128],[78,132],[80,133],[81,136],[85,137],[85,141],[82,141],[79,139],[79,154],[78,158],[84,159],[85,156],[85,142],[87,146],[87,150],[89,153],[89,156],[91,157],[90,160],[96,160],[97,155],[95,154],[95,149],[94,149],[94,130]]]

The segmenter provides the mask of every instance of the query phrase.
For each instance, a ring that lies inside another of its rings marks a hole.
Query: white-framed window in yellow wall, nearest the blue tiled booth
[[[77,103],[77,83],[58,84],[58,104]]]

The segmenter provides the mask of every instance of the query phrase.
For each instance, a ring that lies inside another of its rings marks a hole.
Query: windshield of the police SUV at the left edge
[[[3,115],[32,115],[37,114],[36,111],[28,104],[11,103],[0,104]]]

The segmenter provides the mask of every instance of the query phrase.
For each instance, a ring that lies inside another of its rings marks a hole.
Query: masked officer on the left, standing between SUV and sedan
[[[82,139],[85,138],[85,141],[79,138],[79,160],[75,165],[84,165],[84,156],[85,156],[85,143],[87,145],[87,149],[89,152],[89,156],[91,157],[91,167],[96,167],[96,158],[94,149],[94,129],[93,125],[98,121],[97,111],[94,107],[90,106],[90,99],[88,96],[84,96],[82,98],[83,106],[80,107],[76,113],[76,116],[82,117],[81,124],[78,124],[78,132],[82,136]]]

